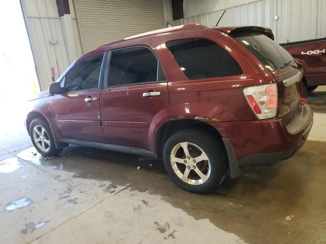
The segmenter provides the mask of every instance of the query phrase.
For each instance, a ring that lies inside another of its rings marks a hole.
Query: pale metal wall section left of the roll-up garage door
[[[22,0],[22,9],[28,29],[41,90],[52,83],[69,66],[66,46],[58,15],[56,0]],[[74,20],[75,35],[78,29]],[[75,40],[77,55],[82,54],[80,41]]]

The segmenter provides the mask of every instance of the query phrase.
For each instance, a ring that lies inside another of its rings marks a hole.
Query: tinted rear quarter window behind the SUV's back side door
[[[168,41],[167,48],[188,79],[242,74],[234,58],[218,44],[201,38]]]

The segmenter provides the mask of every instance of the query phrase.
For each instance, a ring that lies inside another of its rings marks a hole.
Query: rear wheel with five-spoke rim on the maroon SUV
[[[199,156],[202,160],[194,161]],[[222,142],[198,130],[184,130],[172,135],[164,146],[163,160],[172,180],[183,190],[197,194],[216,190],[226,175],[228,163]],[[199,170],[201,176],[197,173]]]

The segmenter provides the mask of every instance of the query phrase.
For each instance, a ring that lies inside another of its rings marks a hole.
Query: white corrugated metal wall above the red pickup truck
[[[188,17],[184,22],[214,26],[223,11]],[[275,16],[279,19],[274,20]],[[219,26],[269,27],[273,29],[276,41],[284,43],[325,37],[325,23],[326,0],[259,0],[228,8]]]

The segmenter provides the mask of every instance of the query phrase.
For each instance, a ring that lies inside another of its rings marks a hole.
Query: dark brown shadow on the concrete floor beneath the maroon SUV
[[[307,141],[291,159],[251,168],[238,179],[227,178],[210,195],[182,191],[166,174],[162,161],[134,155],[67,147],[55,159],[34,163],[72,172],[73,177],[130,184],[130,191],[159,195],[189,216],[209,219],[249,243],[307,243],[322,231],[324,221],[320,211],[326,201],[321,193],[326,184],[322,173],[326,153],[320,152],[325,147],[326,142]],[[288,221],[286,216],[294,217]]]

